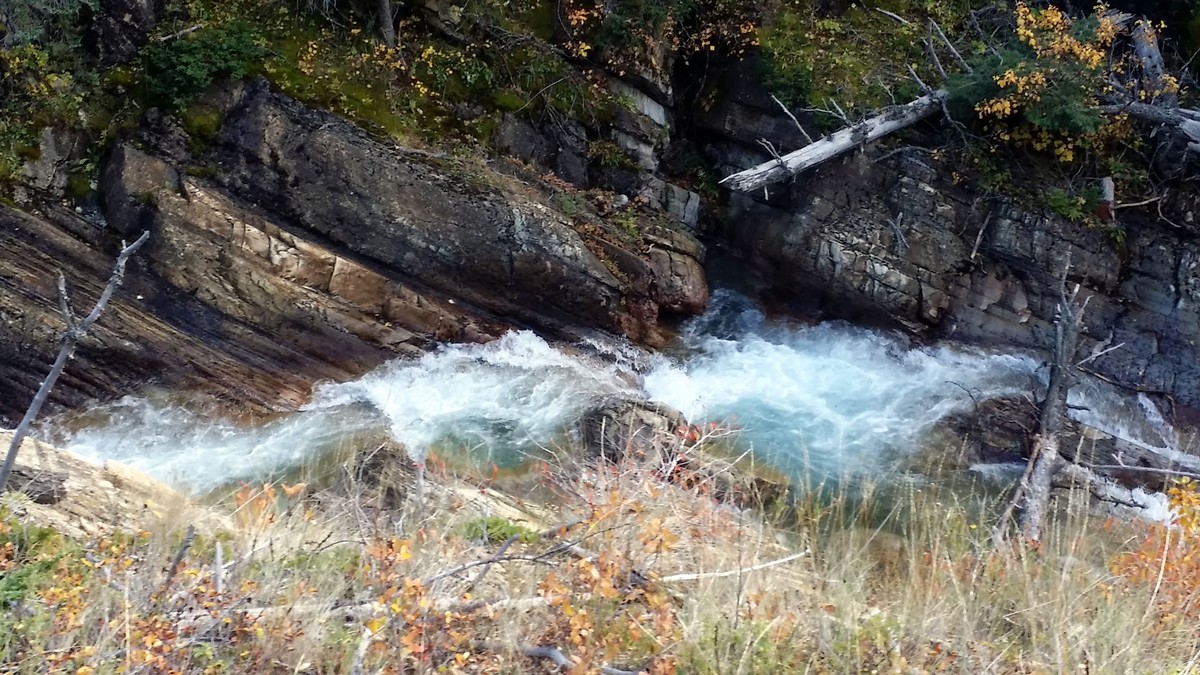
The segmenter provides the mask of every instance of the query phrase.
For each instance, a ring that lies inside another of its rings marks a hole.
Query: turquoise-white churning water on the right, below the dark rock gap
[[[722,291],[682,336],[691,353],[660,359],[649,398],[692,422],[728,420],[760,456],[817,478],[883,470],[947,414],[1028,392],[1038,365],[845,323],[770,322]]]

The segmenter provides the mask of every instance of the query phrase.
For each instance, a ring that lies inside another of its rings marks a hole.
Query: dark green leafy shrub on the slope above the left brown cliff
[[[268,54],[254,26],[240,22],[152,42],[142,55],[146,95],[152,104],[184,109],[218,77],[246,77]]]

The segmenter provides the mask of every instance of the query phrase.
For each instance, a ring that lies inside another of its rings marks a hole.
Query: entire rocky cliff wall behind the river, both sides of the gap
[[[133,28],[103,34],[109,52],[132,53],[112,41],[144,37],[151,5],[126,12]],[[660,74],[672,68],[649,60]],[[1049,345],[1069,259],[1068,281],[1092,295],[1084,350],[1122,345],[1087,368],[1181,410],[1200,406],[1194,196],[1168,207],[1182,227],[1121,211],[1127,239],[1117,246],[972,192],[920,151],[869,148],[767,195],[722,195],[720,217],[702,219],[713,204],[662,178],[680,145],[726,175],[767,159],[761,138],[803,144],[754,61],[695,108],[677,101],[667,74],[608,79],[629,104],[601,126],[502,115],[493,145],[532,166],[398,148],[263,82],[226,86],[204,101],[220,123],[211,138],[197,143],[172,117],[150,114],[108,149],[102,208],[88,219],[54,205],[73,143],[44,135],[26,167],[29,213],[0,210],[0,417],[23,410],[53,357],[54,270],[67,270],[86,301],[121,235],[150,229],[152,239],[68,369],[60,405],[157,381],[290,407],[314,380],[511,327],[658,345],[664,317],[707,303],[700,222],[710,226],[706,243],[733,251],[763,293],[990,345]],[[596,139],[624,162],[592,157]],[[566,184],[611,192],[562,192]],[[569,214],[552,198],[563,195],[570,210],[588,202],[587,213]]]

